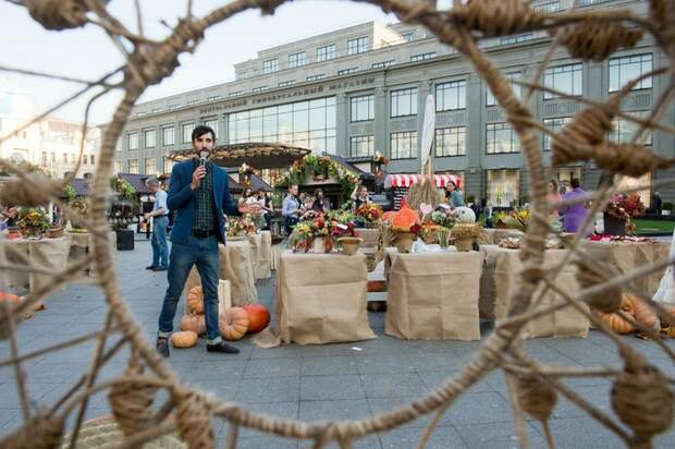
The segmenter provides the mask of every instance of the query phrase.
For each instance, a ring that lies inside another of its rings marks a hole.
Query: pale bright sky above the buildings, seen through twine
[[[200,16],[223,3],[223,0],[194,0],[193,11]],[[450,1],[440,1],[439,7],[444,3]],[[163,19],[175,24],[179,16],[185,15],[187,0],[140,0],[140,5],[146,36],[161,38],[168,34],[168,28],[160,21]],[[133,0],[112,0],[109,10],[127,28],[137,29]],[[241,13],[211,27],[197,51],[183,54],[181,66],[173,75],[148,88],[139,101],[233,81],[234,64],[255,59],[259,50],[369,21],[386,24],[395,23],[397,19],[373,5],[348,1],[295,1],[280,7],[273,16],[261,16],[259,11]],[[60,33],[48,32],[33,21],[24,8],[2,0],[0,43],[0,66],[83,80],[97,80],[123,61],[120,50],[100,28],[88,25]],[[0,71],[0,89],[8,83],[34,96],[36,112],[57,105],[82,88],[79,84]],[[120,98],[119,93],[111,93],[98,100],[89,121],[109,122]],[[82,121],[86,100],[87,97],[74,101],[53,116]]]

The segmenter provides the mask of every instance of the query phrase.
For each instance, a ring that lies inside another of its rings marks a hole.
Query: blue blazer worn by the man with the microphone
[[[176,213],[171,230],[171,241],[180,245],[187,243],[195,221],[197,197],[195,192],[189,189],[189,184],[197,166],[197,159],[189,159],[174,165],[171,171],[167,207]],[[218,238],[224,243],[223,211],[226,215],[235,216],[240,213],[236,203],[232,201],[230,195],[228,172],[213,163],[209,163],[208,170],[213,171],[213,204],[216,205],[216,218],[218,220],[218,229],[214,231],[218,231]]]

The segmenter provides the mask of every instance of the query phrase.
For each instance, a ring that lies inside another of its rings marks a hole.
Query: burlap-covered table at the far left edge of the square
[[[40,240],[3,240],[0,241],[0,251],[9,264],[24,265],[27,260],[30,265],[49,270],[54,275],[68,267],[68,255],[71,246],[70,235],[58,239]],[[35,291],[51,282],[51,277],[41,272],[27,270],[5,270],[7,282],[10,290]]]

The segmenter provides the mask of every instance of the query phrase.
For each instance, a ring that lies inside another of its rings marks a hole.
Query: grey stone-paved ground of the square
[[[147,338],[154,340],[157,317],[167,287],[165,272],[144,269],[150,246],[136,242],[133,252],[119,252],[116,258],[121,290]],[[273,281],[258,281],[260,301],[272,306]],[[24,321],[19,329],[23,352],[101,329],[106,305],[100,290],[76,284],[47,301],[47,311]],[[181,310],[181,308],[180,308]],[[176,317],[176,323],[177,323]],[[384,314],[370,313],[376,340],[328,345],[287,345],[262,350],[248,339],[233,344],[236,355],[210,354],[200,341],[196,348],[172,350],[169,363],[182,379],[225,399],[245,403],[249,410],[285,418],[355,420],[405,405],[440,385],[461,369],[480,342],[402,341],[383,335]],[[483,339],[489,326],[482,326]],[[114,342],[116,337],[111,338]],[[674,365],[654,344],[635,338],[627,341],[660,368],[675,376]],[[112,343],[109,343],[110,345]],[[671,347],[675,349],[673,341]],[[357,347],[360,351],[354,350]],[[23,367],[32,405],[52,404],[78,379],[89,363],[95,344],[89,341],[62,351],[38,356]],[[588,339],[536,339],[525,342],[535,359],[564,365],[619,366],[612,342],[600,332]],[[0,342],[0,359],[10,355],[7,341]],[[124,369],[128,351],[120,351],[101,372],[98,381],[111,379]],[[613,415],[609,403],[611,385],[604,379],[567,380],[584,398]],[[165,398],[165,396],[164,396]],[[161,403],[161,401],[158,401]],[[22,422],[20,400],[9,367],[0,368],[0,434]],[[97,395],[89,401],[86,417],[109,413],[107,398]],[[430,417],[425,416],[386,434],[365,438],[356,448],[412,448]],[[441,420],[429,448],[516,448],[511,408],[501,373],[490,373],[463,395]],[[73,425],[71,418],[69,425]],[[541,426],[528,422],[532,448],[545,447]],[[559,448],[616,448],[621,440],[589,418],[565,399],[559,401],[551,420]],[[219,445],[226,427],[214,423]],[[311,441],[273,438],[243,430],[241,448],[309,448]],[[331,446],[336,447],[336,446]],[[675,447],[675,432],[661,436],[658,448]]]

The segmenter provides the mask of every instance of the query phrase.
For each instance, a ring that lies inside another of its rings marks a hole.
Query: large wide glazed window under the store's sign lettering
[[[335,97],[270,106],[228,116],[228,143],[271,142],[335,154]]]

